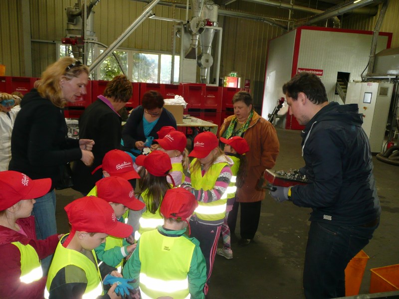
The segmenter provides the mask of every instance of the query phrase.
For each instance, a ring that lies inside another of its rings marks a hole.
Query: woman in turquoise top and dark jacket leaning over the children
[[[164,107],[164,98],[154,90],[147,91],[129,116],[122,131],[124,150],[139,155],[146,146],[157,149],[152,140],[158,139],[157,132],[164,126],[177,129],[175,117]]]

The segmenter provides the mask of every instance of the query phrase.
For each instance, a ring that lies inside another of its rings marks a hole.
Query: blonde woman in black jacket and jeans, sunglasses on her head
[[[33,205],[38,239],[57,233],[54,187],[59,182],[63,165],[78,159],[90,165],[94,158],[92,140],[66,137],[62,112],[65,102],[79,101],[86,94],[87,81],[88,69],[80,61],[71,57],[59,59],[35,82],[37,89],[23,97],[15,119],[9,170],[25,173],[32,179],[49,177],[52,181],[49,192],[37,198]],[[50,259],[42,261],[44,273]]]

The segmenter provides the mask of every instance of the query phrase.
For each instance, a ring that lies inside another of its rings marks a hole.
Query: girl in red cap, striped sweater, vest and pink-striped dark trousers
[[[199,202],[190,224],[192,236],[200,241],[206,261],[206,295],[220,226],[226,211],[226,190],[232,176],[230,165],[233,162],[219,149],[217,137],[211,132],[203,132],[196,136],[194,149],[189,156],[195,159],[189,166],[182,187],[192,191]]]

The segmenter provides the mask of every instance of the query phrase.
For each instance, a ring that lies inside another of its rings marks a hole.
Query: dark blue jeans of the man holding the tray
[[[377,227],[311,222],[303,269],[306,299],[345,297],[345,268],[369,243]]]

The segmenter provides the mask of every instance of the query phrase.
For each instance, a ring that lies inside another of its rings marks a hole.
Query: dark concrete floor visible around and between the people
[[[301,157],[300,131],[277,129],[280,154],[274,170],[298,169]],[[360,294],[368,294],[370,269],[399,264],[399,167],[374,161],[378,195],[382,206],[381,224],[364,251],[370,260]],[[255,178],[254,178],[255,179]],[[59,233],[68,231],[63,207],[80,197],[72,189],[57,191],[57,225]],[[300,299],[304,252],[311,209],[290,202],[276,203],[266,195],[262,203],[259,228],[255,239],[246,247],[237,245],[232,235],[234,258],[215,258],[208,299]],[[237,223],[236,235],[239,237]]]

